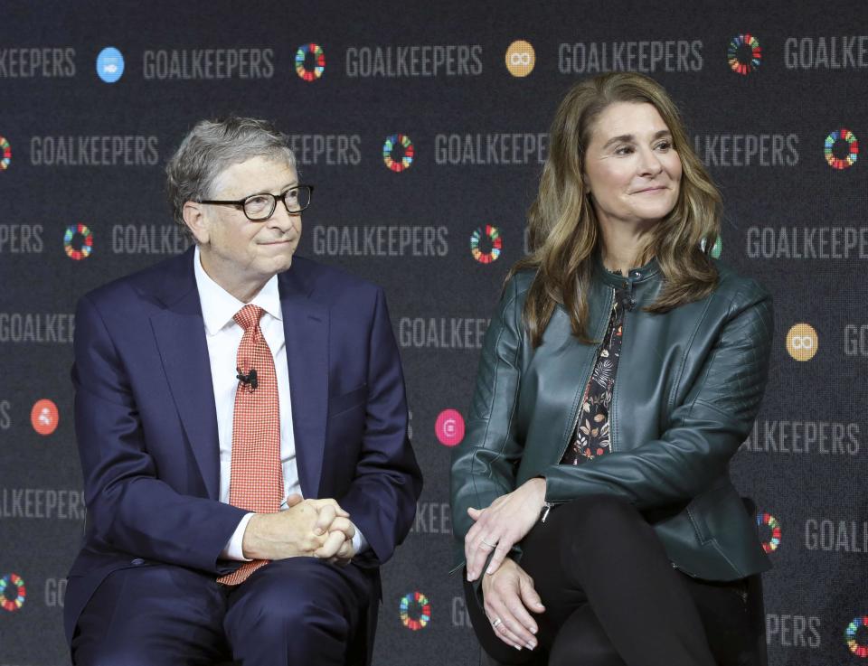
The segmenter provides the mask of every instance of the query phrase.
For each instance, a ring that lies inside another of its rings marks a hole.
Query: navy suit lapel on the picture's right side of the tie
[[[329,314],[310,299],[302,262],[293,262],[278,279],[298,480],[304,496],[312,498],[318,496],[325,452]]]

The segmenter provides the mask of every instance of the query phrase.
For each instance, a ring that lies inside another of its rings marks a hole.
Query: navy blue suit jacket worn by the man
[[[349,511],[371,548],[356,561],[376,576],[421,490],[382,290],[300,257],[278,285],[301,491]],[[81,298],[72,380],[88,528],[70,572],[68,640],[118,568],[144,560],[216,577],[239,566],[220,559],[244,511],[219,501],[193,249]]]

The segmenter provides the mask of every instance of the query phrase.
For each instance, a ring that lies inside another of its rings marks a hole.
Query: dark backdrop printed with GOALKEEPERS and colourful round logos
[[[448,577],[449,450],[554,108],[635,70],[678,101],[722,189],[722,260],[775,298],[769,390],[732,463],[775,566],[770,663],[868,666],[863,0],[487,5],[0,7],[0,664],[68,662],[76,300],[185,249],[163,167],[229,112],[275,121],[316,185],[299,252],[388,295],[425,490],[383,571],[375,663],[476,664]]]

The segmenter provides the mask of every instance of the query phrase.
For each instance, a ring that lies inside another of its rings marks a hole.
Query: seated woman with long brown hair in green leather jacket
[[[769,568],[728,475],[769,295],[710,257],[720,194],[654,80],[567,94],[453,456],[457,560],[497,661],[711,665]],[[485,573],[484,573],[485,571]],[[515,648],[515,649],[513,649]]]

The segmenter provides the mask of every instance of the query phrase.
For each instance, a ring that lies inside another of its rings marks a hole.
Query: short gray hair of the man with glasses
[[[184,223],[184,203],[211,199],[223,170],[252,157],[296,165],[288,137],[267,120],[237,116],[200,120],[184,136],[165,165],[165,175],[172,216],[188,238],[192,234]]]

